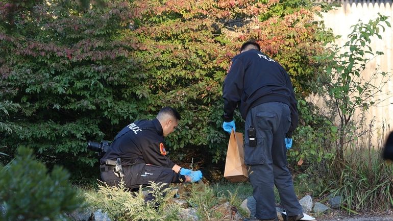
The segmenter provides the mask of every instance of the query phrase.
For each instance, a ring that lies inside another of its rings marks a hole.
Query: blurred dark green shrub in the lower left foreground
[[[82,206],[68,182],[69,174],[59,166],[48,173],[28,148],[18,149],[17,156],[0,168],[0,177],[0,203],[5,210],[1,220],[61,220],[62,214]]]

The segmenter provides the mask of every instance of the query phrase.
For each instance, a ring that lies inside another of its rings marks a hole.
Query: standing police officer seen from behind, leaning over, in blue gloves
[[[245,42],[240,54],[231,61],[223,84],[223,98],[225,131],[235,130],[236,106],[245,119],[244,162],[249,166],[257,219],[244,220],[278,220],[274,185],[287,220],[301,219],[302,207],[293,190],[284,143],[285,134],[298,124],[297,101],[288,73],[278,62],[261,53],[258,43]]]

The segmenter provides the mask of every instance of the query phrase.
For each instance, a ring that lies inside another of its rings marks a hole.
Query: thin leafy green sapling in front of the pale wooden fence
[[[370,43],[373,37],[381,39],[379,33],[386,27],[390,28],[388,17],[381,14],[367,23],[359,21],[352,26],[349,40],[343,46],[331,44],[327,53],[318,58],[324,65],[317,81],[317,94],[326,104],[321,112],[336,126],[337,140],[332,145],[339,169],[343,168],[345,151],[357,139],[356,131],[365,111],[381,102],[378,96],[390,79],[387,72],[378,68],[370,77],[363,75],[367,63],[383,55],[383,52],[373,52]],[[355,116],[356,110],[360,112],[359,117]]]

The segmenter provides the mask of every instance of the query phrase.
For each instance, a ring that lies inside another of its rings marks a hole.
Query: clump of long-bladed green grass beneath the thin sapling
[[[393,206],[393,170],[375,152],[352,150],[345,168],[334,181],[333,193],[354,211],[385,211]],[[350,210],[347,210],[351,213]]]

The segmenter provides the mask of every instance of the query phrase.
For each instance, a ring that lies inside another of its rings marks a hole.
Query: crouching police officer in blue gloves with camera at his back
[[[155,183],[197,182],[200,170],[192,171],[172,162],[167,156],[164,137],[178,126],[180,114],[171,107],[162,108],[153,120],[138,120],[122,129],[101,158],[101,178],[110,186],[120,180],[132,190]]]

